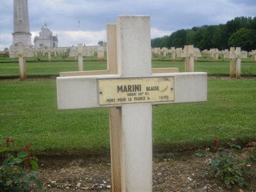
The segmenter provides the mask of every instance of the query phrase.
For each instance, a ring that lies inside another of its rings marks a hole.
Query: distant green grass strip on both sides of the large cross
[[[77,71],[78,62],[74,58],[65,58],[62,60],[61,56],[57,58],[52,57],[52,62],[48,61],[48,56],[41,56],[41,61],[36,61],[35,58],[27,58],[27,75],[29,76],[58,76],[60,72]],[[106,70],[108,64],[106,61],[97,61],[97,56],[84,57],[84,70]],[[179,72],[184,72],[185,62],[176,58],[176,61],[170,61],[171,56],[168,55],[163,59],[163,56],[152,56],[152,68],[169,68],[177,67]],[[229,76],[230,75],[230,60],[223,59],[223,56],[218,62],[214,62],[209,55],[203,55],[195,62],[195,72],[207,72],[214,76]],[[251,58],[242,59],[241,62],[241,76],[256,76],[256,65],[251,62]],[[19,77],[19,63],[17,58],[0,58],[0,77]]]

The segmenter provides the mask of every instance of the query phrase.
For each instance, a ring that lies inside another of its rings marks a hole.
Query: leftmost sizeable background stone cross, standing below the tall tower
[[[19,58],[20,81],[27,78],[26,74],[26,57],[32,58],[33,52],[26,52],[25,45],[18,45],[18,50],[10,53],[10,58]]]

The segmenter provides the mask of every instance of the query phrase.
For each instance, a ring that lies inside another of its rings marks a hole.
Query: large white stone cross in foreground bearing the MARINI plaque
[[[152,191],[152,105],[206,101],[207,74],[152,74],[149,16],[118,16],[116,46],[118,74],[57,77],[58,109],[116,108],[113,191]]]

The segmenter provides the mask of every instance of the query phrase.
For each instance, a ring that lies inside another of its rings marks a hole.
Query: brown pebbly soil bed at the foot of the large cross
[[[236,184],[228,189],[223,182],[209,174],[204,179],[201,173],[208,165],[211,157],[196,157],[195,152],[182,152],[174,155],[174,159],[165,159],[170,154],[154,157],[153,191],[256,191],[255,167],[246,174],[249,187]],[[173,156],[172,156],[173,157]],[[244,158],[243,154],[239,155]],[[45,156],[38,157],[38,179],[42,182],[43,191],[112,191],[111,161],[109,156]],[[56,185],[54,182],[56,182]],[[80,188],[76,188],[78,183]],[[100,188],[100,184],[104,184]],[[32,191],[38,191],[35,185]]]

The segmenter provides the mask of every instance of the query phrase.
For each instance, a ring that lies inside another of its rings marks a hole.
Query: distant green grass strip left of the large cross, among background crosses
[[[59,76],[60,72],[69,72],[78,70],[78,61],[74,58],[65,58],[61,56],[51,57],[48,61],[48,55],[38,54],[41,61],[35,58],[26,58],[26,73],[28,77],[33,76]],[[97,61],[97,56],[84,57],[84,70],[106,70],[108,69],[107,61]],[[106,55],[105,55],[106,60]],[[0,77],[19,77],[19,61],[17,58],[0,58]]]

